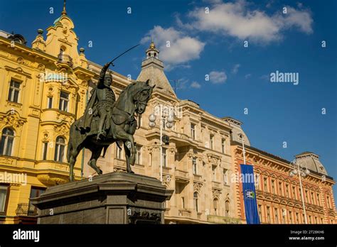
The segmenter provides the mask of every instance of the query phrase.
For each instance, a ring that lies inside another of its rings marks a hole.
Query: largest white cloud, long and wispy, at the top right
[[[307,10],[287,6],[287,14],[282,11],[268,15],[259,9],[250,9],[245,0],[233,3],[215,3],[210,13],[204,8],[196,8],[188,13],[191,23],[181,26],[193,27],[197,31],[230,35],[240,40],[269,43],[282,39],[282,32],[289,28],[299,28],[304,33],[312,33],[313,19]]]

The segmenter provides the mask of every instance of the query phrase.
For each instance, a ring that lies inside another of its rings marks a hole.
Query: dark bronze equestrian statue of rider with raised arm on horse
[[[131,49],[129,49],[131,50]],[[124,54],[124,53],[122,53]],[[113,62],[114,60],[112,60]],[[92,89],[85,113],[70,126],[67,159],[70,165],[69,180],[74,180],[74,165],[82,148],[87,148],[92,155],[88,165],[98,175],[102,170],[97,167],[97,159],[103,150],[103,157],[109,145],[123,143],[127,160],[127,172],[132,172],[131,165],[136,160],[134,132],[137,129],[135,116],[140,116],[146,109],[154,86],[146,82],[132,82],[119,95],[118,99],[111,89],[112,75],[108,72],[108,62],[102,67],[97,86]]]

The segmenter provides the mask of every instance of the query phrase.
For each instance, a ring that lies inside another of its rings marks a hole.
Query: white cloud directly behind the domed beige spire
[[[161,26],[154,26],[141,39],[141,43],[149,43],[151,37],[154,38],[154,43],[160,51],[159,59],[166,62],[169,67],[198,59],[205,46],[205,43],[198,38],[192,38],[172,27],[165,29]],[[168,42],[170,47],[167,47]]]

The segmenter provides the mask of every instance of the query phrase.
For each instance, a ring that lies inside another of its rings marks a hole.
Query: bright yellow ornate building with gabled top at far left
[[[0,33],[0,219],[6,223],[33,220],[29,197],[68,181],[70,124],[84,111],[95,76],[84,50],[77,52],[73,28],[64,10],[46,40],[38,30],[31,48],[22,35]]]

